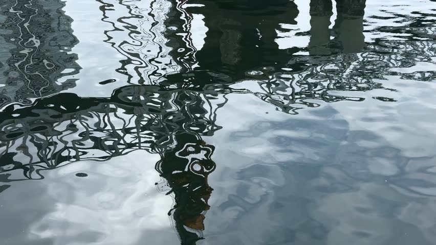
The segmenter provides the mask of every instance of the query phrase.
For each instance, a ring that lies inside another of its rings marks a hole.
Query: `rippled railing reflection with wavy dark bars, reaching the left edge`
[[[136,149],[164,154],[180,132],[202,136],[219,129],[215,113],[223,100],[214,91],[130,86],[107,99],[62,93],[31,107],[7,107],[0,113],[0,169],[42,178],[39,169],[72,161],[103,161]]]

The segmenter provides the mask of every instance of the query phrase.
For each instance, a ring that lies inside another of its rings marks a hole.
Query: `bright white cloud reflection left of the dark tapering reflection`
[[[173,200],[155,187],[160,178],[154,164],[159,159],[156,154],[136,151],[104,164],[82,161],[48,171],[43,198],[54,202],[30,225],[28,242],[177,243],[165,211]],[[76,173],[88,177],[76,177]]]

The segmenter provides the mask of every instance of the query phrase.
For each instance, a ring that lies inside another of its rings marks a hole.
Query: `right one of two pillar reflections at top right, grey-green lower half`
[[[365,47],[363,15],[365,0],[336,0],[335,30],[344,53],[359,53]]]

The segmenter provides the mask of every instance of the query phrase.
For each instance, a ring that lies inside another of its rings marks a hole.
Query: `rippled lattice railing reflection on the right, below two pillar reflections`
[[[433,70],[401,74],[396,67],[411,67],[417,62],[429,62],[436,56],[436,44],[429,41],[387,41],[368,45],[360,54],[325,56],[293,56],[282,71],[276,67],[260,67],[247,72],[260,90],[253,92],[260,99],[276,106],[277,110],[297,114],[305,107],[318,107],[322,102],[363,101],[363,97],[346,96],[347,92],[387,89],[377,80],[400,75],[403,79],[431,81]],[[292,67],[292,68],[291,68]],[[345,95],[334,95],[344,91]],[[395,90],[394,90],[395,91]],[[381,101],[395,101],[374,97]]]

